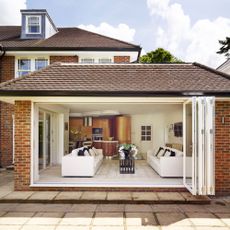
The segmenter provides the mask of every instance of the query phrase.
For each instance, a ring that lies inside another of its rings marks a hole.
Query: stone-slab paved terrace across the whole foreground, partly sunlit
[[[213,199],[210,204],[117,204],[65,203],[42,201],[69,199],[101,199],[116,197],[114,193],[12,192],[12,172],[0,172],[0,230],[194,230],[230,229],[230,198]],[[101,194],[101,195],[100,195]],[[123,194],[123,193],[122,193]],[[120,197],[134,199],[124,193]],[[159,193],[161,194],[161,193]],[[154,194],[152,197],[161,197]],[[166,193],[167,194],[167,193]],[[167,194],[168,196],[169,194]],[[182,194],[180,194],[182,195]],[[8,198],[7,198],[8,197]],[[128,199],[128,200],[129,200]],[[39,203],[17,203],[30,200]]]

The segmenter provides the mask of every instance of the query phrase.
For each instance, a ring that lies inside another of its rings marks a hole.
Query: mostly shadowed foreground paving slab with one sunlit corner
[[[192,226],[191,221],[180,212],[156,213],[156,217],[161,226]]]

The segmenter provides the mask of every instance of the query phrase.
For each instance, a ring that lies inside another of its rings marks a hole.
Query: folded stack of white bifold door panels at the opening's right
[[[214,194],[214,97],[184,103],[185,187],[194,195]]]

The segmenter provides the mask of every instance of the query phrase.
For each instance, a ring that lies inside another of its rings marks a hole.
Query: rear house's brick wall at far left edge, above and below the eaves
[[[14,56],[4,56],[1,60],[0,81],[5,82],[14,78]],[[0,166],[12,164],[13,159],[13,119],[14,106],[0,102]]]

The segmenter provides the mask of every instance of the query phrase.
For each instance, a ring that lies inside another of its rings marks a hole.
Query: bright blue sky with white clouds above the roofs
[[[218,40],[230,36],[230,0],[0,0],[0,25],[20,25],[20,9],[47,9],[56,26],[80,27],[186,62],[218,67]]]

